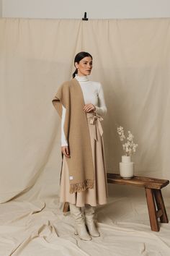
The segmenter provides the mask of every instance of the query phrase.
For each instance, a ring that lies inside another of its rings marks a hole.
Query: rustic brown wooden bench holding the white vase
[[[133,176],[132,179],[122,179],[119,174],[107,174],[107,182],[145,188],[151,230],[159,231],[160,226],[158,224],[158,218],[160,218],[161,223],[169,222],[161,194],[161,189],[169,184],[169,180],[143,176]],[[69,203],[65,202],[63,206],[63,213],[66,214],[68,210]]]

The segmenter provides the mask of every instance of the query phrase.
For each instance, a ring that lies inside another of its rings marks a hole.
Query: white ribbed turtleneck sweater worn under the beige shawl
[[[102,89],[102,84],[100,82],[94,82],[89,80],[87,76],[78,76],[76,74],[76,80],[79,81],[81,85],[81,90],[84,95],[84,103],[91,103],[96,107],[95,113],[100,116],[104,116],[107,113],[107,107],[104,101],[104,93]],[[68,141],[66,140],[63,124],[66,116],[66,108],[62,105],[63,112],[61,117],[61,146],[67,146]],[[84,110],[82,110],[84,111]]]

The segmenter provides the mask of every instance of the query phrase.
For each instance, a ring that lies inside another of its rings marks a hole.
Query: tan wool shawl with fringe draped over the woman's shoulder
[[[81,85],[74,77],[63,82],[52,100],[53,106],[62,116],[62,105],[66,108],[64,133],[68,141],[70,158],[66,157],[69,170],[70,193],[94,187],[94,165],[89,126],[84,112],[84,95]],[[63,163],[63,153],[62,163]]]

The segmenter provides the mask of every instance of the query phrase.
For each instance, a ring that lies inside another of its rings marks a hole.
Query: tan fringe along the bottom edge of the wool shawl
[[[94,179],[85,179],[84,182],[70,184],[70,193],[81,192],[86,189],[92,189],[94,187]]]

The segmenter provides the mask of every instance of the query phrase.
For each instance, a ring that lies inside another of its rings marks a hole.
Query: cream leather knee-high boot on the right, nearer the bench
[[[97,227],[95,226],[94,223],[94,214],[95,214],[95,210],[94,210],[94,206],[91,205],[85,205],[84,208],[84,215],[85,215],[85,221],[86,221],[86,226],[89,229],[89,234],[91,234],[91,236],[100,236],[99,231],[97,231]]]

